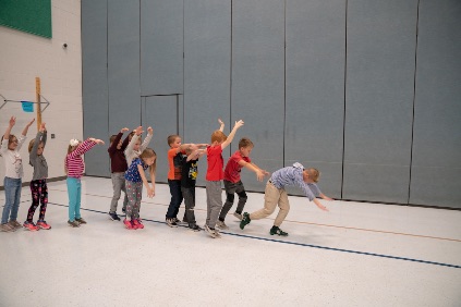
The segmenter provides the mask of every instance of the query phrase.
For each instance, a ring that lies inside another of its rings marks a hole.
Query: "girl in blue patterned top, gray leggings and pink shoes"
[[[146,148],[141,154],[139,158],[135,158],[133,160],[125,173],[125,185],[129,204],[126,206],[126,218],[123,223],[129,230],[144,229],[144,225],[139,219],[143,183],[147,189],[147,196],[154,197],[156,158],[157,154],[153,149]],[[147,168],[149,168],[151,187],[149,186],[146,175],[144,174],[144,170],[147,170]]]

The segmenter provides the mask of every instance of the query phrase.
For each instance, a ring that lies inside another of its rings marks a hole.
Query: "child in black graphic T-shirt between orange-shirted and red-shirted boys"
[[[195,149],[196,148],[196,149]],[[198,174],[198,158],[206,154],[205,149],[197,147],[189,147],[185,149],[186,157],[182,160],[181,174],[181,193],[184,196],[185,202],[185,220],[189,228],[193,231],[201,231],[202,229],[195,221],[195,181]],[[195,149],[195,150],[194,150]]]

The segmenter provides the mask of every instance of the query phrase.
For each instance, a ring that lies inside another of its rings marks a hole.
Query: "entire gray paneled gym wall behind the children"
[[[460,15],[457,0],[82,0],[84,134],[151,125],[166,182],[169,134],[209,142],[243,119],[225,158],[247,136],[256,164],[318,168],[335,198],[461,208]],[[106,148],[86,163],[109,176]]]

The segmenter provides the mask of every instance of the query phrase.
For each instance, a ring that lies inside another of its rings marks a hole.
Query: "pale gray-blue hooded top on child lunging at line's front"
[[[305,183],[303,181],[304,167],[301,163],[294,163],[293,167],[287,167],[275,171],[270,176],[270,182],[277,188],[284,188],[287,185],[301,187],[308,200],[314,200],[322,194],[315,183]]]

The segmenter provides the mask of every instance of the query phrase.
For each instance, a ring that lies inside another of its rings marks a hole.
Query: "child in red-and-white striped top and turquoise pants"
[[[102,144],[101,139],[88,138],[84,143],[78,139],[71,139],[68,147],[68,156],[64,160],[64,169],[68,175],[68,195],[69,195],[69,221],[68,224],[78,228],[86,224],[86,221],[80,214],[82,182],[81,177],[85,170],[85,162],[82,156],[92,149],[96,144]]]

